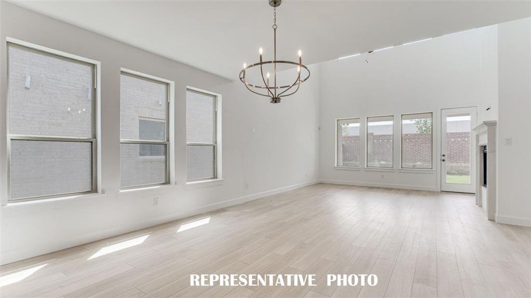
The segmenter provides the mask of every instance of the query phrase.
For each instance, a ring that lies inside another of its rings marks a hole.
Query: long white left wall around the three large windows
[[[6,156],[6,36],[98,60],[101,62],[100,186],[104,192],[92,197],[3,206],[0,209],[2,264],[258,198],[280,188],[303,186],[318,179],[318,66],[311,67],[312,78],[298,94],[275,105],[250,94],[240,82],[229,82],[10,3],[2,3],[0,17],[0,156]],[[175,150],[171,153],[175,156],[176,185],[118,193],[121,67],[175,82]],[[187,85],[222,94],[225,180],[220,186],[190,189],[184,185]],[[5,158],[0,159],[0,171],[0,189],[5,200]],[[154,197],[160,198],[156,207],[152,204]]]

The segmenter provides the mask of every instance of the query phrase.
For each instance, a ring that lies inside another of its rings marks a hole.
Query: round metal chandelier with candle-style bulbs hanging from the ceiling
[[[282,0],[269,0],[269,5],[273,7],[273,60],[269,61],[263,61],[262,54],[263,50],[260,48],[258,50],[260,54],[260,62],[254,63],[251,65],[243,64],[243,69],[241,72],[239,72],[239,80],[242,81],[242,83],[245,84],[245,87],[249,89],[249,91],[262,95],[265,97],[269,97],[269,102],[271,103],[279,103],[280,97],[287,97],[289,95],[294,94],[298,91],[299,86],[301,84],[308,80],[310,77],[310,70],[308,67],[302,64],[302,51],[299,49],[297,51],[298,54],[298,62],[293,61],[286,61],[286,60],[277,60],[277,7],[280,6],[280,3]],[[264,65],[269,65],[269,67],[273,68],[273,75],[272,75],[272,82],[270,82],[270,73],[267,72],[264,76]],[[292,84],[289,85],[281,85],[277,84],[277,66],[278,68],[286,68],[286,67],[297,67],[297,73],[295,81]],[[258,68],[260,67],[260,77],[261,81],[259,83],[250,83],[247,82],[248,73],[251,72],[252,68],[254,71],[258,72]],[[301,73],[304,72],[304,75]],[[263,84],[262,84],[263,83]],[[288,92],[288,93],[286,93]]]

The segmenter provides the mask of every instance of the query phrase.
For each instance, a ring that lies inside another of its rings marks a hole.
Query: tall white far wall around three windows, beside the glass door
[[[321,181],[439,190],[440,109],[477,106],[479,121],[496,119],[496,46],[496,27],[491,26],[322,63]],[[399,168],[400,115],[415,112],[433,112],[433,171],[334,168],[336,118],[361,117],[364,144],[365,117],[394,115],[394,166]]]

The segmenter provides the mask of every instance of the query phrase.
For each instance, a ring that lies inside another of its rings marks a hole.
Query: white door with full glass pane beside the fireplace
[[[441,190],[474,193],[476,107],[441,110]]]

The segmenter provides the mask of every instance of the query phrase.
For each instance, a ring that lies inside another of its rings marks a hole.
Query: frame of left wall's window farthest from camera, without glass
[[[214,103],[213,103],[213,136],[212,141],[213,143],[194,143],[194,142],[188,142],[188,127],[186,126],[186,148],[185,148],[185,180],[186,184],[193,184],[193,183],[200,183],[200,182],[207,182],[207,181],[216,181],[221,180],[221,159],[219,158],[221,156],[221,94],[210,92],[207,90],[202,90],[199,88],[195,88],[192,86],[186,86],[186,93],[187,92],[196,92],[196,93],[202,93],[206,95],[210,95],[214,97]],[[186,97],[186,102],[187,102]],[[186,117],[188,117],[186,112]],[[188,146],[211,146],[214,150],[214,160],[213,160],[213,166],[214,166],[214,175],[210,178],[201,178],[201,179],[188,179],[188,154],[187,149]]]

